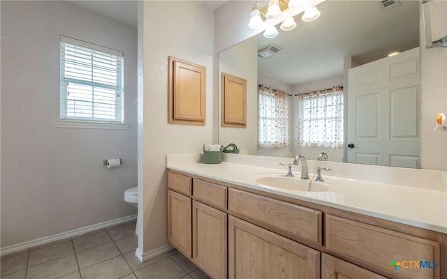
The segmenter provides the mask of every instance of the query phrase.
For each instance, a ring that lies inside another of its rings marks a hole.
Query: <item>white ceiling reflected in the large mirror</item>
[[[401,0],[400,6],[382,10],[381,1],[328,0],[318,9],[321,16],[281,31],[273,39],[258,36],[258,49],[274,43],[283,49],[258,59],[258,73],[286,84],[300,84],[343,74],[344,57],[358,63],[386,57],[392,51],[419,45],[419,2]]]

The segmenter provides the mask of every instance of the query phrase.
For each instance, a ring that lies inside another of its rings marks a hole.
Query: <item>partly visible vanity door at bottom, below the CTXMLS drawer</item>
[[[325,253],[321,255],[321,266],[321,279],[387,279]]]

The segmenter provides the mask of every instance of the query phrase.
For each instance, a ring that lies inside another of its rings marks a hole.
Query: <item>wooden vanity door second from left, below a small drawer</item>
[[[227,275],[227,214],[193,201],[193,262],[212,278]]]

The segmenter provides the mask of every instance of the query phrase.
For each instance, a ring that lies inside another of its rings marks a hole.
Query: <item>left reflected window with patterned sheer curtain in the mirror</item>
[[[260,149],[285,149],[290,146],[288,124],[288,95],[285,91],[259,86]]]

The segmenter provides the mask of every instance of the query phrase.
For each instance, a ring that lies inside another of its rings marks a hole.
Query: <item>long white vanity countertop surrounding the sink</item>
[[[312,192],[312,190],[307,192],[272,188],[255,181],[257,176],[285,177],[286,168],[256,167],[225,162],[221,164],[191,163],[186,162],[186,160],[171,159],[168,159],[167,167],[168,169],[196,174],[208,179],[264,190],[268,193],[447,234],[447,193],[443,187],[396,186],[330,176],[330,172],[322,171],[325,182],[312,181],[312,186],[326,186],[329,190],[326,192]],[[295,177],[293,179],[300,179],[300,171],[297,172],[296,170],[297,168],[294,169]],[[314,173],[309,168],[311,179],[313,175]]]

